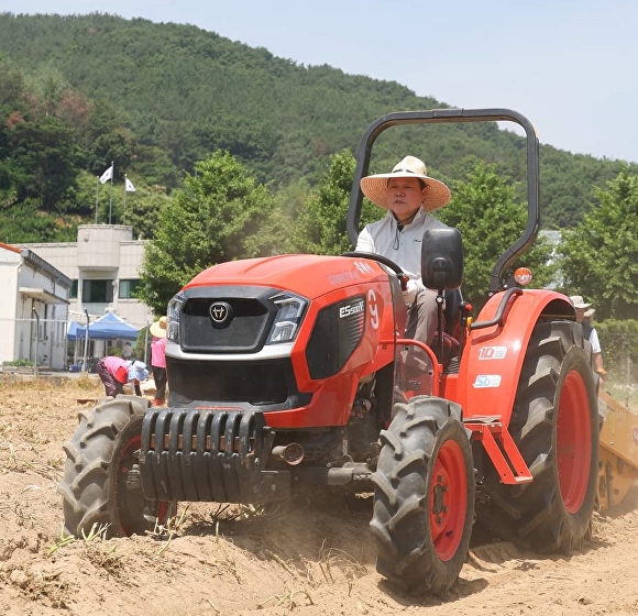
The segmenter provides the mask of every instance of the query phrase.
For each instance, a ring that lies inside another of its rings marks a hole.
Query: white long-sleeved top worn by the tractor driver
[[[355,250],[387,256],[417,282],[420,290],[425,288],[421,280],[424,233],[427,229],[440,228],[447,228],[447,224],[419,209],[415,219],[399,231],[396,218],[388,209],[385,218],[365,226],[359,235]]]

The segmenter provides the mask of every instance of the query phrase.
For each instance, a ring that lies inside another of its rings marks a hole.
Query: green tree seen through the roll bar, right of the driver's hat
[[[435,212],[450,227],[463,234],[465,268],[462,293],[479,315],[487,299],[490,274],[498,257],[521,234],[527,223],[527,208],[516,202],[516,187],[496,173],[495,165],[477,163],[468,174],[466,182],[452,182],[452,201]],[[550,248],[537,243],[514,264],[534,272],[535,287],[551,280],[552,270],[547,265]],[[512,272],[506,273],[509,276]]]

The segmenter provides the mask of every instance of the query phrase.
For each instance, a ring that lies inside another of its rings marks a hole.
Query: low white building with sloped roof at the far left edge
[[[0,363],[64,367],[70,287],[32,250],[0,243]]]

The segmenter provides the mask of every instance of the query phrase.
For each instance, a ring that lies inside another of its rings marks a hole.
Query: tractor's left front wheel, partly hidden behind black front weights
[[[67,461],[57,487],[63,496],[64,529],[81,537],[107,526],[107,537],[143,535],[175,514],[173,503],[147,501],[127,487],[139,462],[142,420],[148,400],[136,396],[103,398],[80,410],[79,426],[64,446]]]

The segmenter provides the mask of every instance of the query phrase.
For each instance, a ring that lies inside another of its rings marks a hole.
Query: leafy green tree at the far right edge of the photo
[[[565,287],[593,301],[600,319],[631,319],[638,308],[638,177],[625,165],[596,196],[600,205],[563,234]]]

